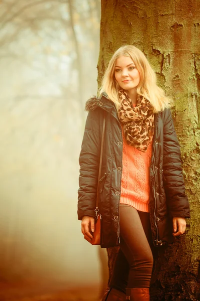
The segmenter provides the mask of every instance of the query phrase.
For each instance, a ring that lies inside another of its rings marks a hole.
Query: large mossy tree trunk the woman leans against
[[[151,300],[200,300],[200,2],[101,0],[98,84],[116,49],[131,44],[146,55],[157,82],[174,100],[191,219],[186,233],[160,247]],[[109,270],[116,248],[108,250]]]

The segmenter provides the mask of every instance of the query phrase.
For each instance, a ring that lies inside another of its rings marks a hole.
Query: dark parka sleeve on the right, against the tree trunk
[[[180,160],[180,147],[169,109],[163,118],[163,186],[171,217],[189,218],[189,203],[185,195]]]

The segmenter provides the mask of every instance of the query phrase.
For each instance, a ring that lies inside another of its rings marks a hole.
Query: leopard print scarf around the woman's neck
[[[121,103],[118,109],[118,118],[123,124],[127,144],[145,152],[154,132],[153,107],[141,95],[138,95],[136,107],[133,107],[124,90],[118,91],[118,97]]]

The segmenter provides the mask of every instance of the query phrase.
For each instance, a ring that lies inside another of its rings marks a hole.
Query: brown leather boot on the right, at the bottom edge
[[[126,300],[130,301],[149,301],[148,287],[126,288]]]

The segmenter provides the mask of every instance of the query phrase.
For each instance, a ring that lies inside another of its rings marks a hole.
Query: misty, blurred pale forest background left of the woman
[[[100,283],[98,247],[84,241],[76,215],[99,26],[100,0],[0,2],[2,300],[20,281]]]

